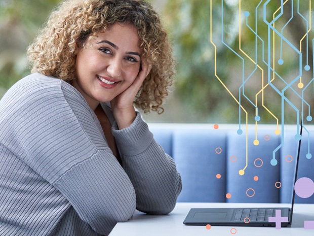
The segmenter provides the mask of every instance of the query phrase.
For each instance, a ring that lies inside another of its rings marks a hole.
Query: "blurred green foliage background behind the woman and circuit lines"
[[[293,0],[295,3],[296,1]],[[16,81],[28,75],[26,48],[34,39],[40,27],[44,24],[50,12],[60,0],[0,0],[0,97]],[[165,104],[162,115],[154,113],[144,115],[148,122],[188,122],[188,123],[238,123],[239,105],[230,95],[239,99],[239,87],[243,80],[242,60],[235,54],[245,58],[245,78],[250,77],[245,86],[245,97],[240,96],[241,104],[248,113],[249,123],[254,123],[256,94],[261,89],[262,73],[256,70],[256,64],[248,58],[258,60],[264,70],[264,82],[267,84],[267,66],[262,63],[267,52],[262,51],[261,41],[256,41],[255,34],[249,27],[245,27],[244,12],[250,12],[248,24],[255,30],[261,39],[267,42],[267,27],[263,23],[262,8],[257,10],[258,24],[255,26],[255,10],[260,1],[256,0],[225,0],[224,27],[221,27],[221,1],[212,1],[212,25],[210,0],[154,0],[151,1],[156,10],[162,15],[167,26],[169,36],[174,45],[174,57],[177,61],[177,75],[174,91]],[[265,1],[263,1],[265,2]],[[300,40],[306,32],[306,21],[301,15],[309,19],[309,2],[302,0],[297,14],[296,7],[292,8],[292,1],[285,3],[285,14],[277,24],[278,28],[285,27],[284,35],[296,48],[300,47]],[[239,4],[241,3],[241,32],[239,27]],[[267,19],[272,19],[279,12],[280,1],[270,1],[267,5]],[[312,9],[311,9],[312,10]],[[292,13],[294,11],[294,14]],[[293,19],[291,16],[294,16]],[[292,19],[292,20],[291,20]],[[211,27],[212,41],[211,42]],[[276,27],[276,28],[277,28]],[[221,43],[221,34],[232,50]],[[303,70],[304,84],[313,77],[312,71],[312,30],[309,34],[308,48],[302,44],[303,60],[308,60],[309,71]],[[241,42],[239,41],[241,37]],[[280,37],[273,38],[277,51],[276,60],[279,59]],[[304,42],[304,41],[303,41]],[[241,47],[240,47],[241,43]],[[257,43],[258,54],[255,54]],[[264,45],[265,46],[265,45]],[[276,65],[277,73],[286,81],[291,82],[299,70],[297,55],[289,46],[284,45],[283,57],[285,63]],[[308,50],[307,50],[308,49]],[[215,54],[216,50],[216,54]],[[266,50],[266,49],[265,49]],[[307,55],[307,58],[305,56]],[[215,69],[216,56],[216,69]],[[215,76],[216,71],[216,76]],[[255,71],[255,72],[254,72]],[[254,72],[254,73],[253,73]],[[217,79],[221,79],[221,82]],[[222,85],[228,88],[229,91]],[[285,83],[276,78],[274,84],[283,88]],[[306,90],[304,96],[309,106],[313,107],[313,86]],[[292,87],[295,88],[295,87]],[[297,88],[295,88],[297,90]],[[299,93],[300,94],[300,93]],[[302,101],[292,89],[285,93],[287,99],[301,109]],[[281,117],[281,96],[271,89],[264,89],[263,96],[257,97],[261,123],[276,123]],[[254,104],[252,104],[252,102]],[[293,123],[296,120],[296,110],[285,103],[285,122]],[[241,122],[245,122],[245,112],[241,112]]]

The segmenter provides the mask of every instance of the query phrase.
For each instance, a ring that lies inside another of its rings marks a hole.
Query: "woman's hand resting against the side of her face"
[[[122,93],[110,101],[113,116],[119,129],[126,128],[135,120],[136,113],[133,107],[133,101],[138,93],[143,81],[148,76],[152,64],[142,60],[140,71],[134,82]]]

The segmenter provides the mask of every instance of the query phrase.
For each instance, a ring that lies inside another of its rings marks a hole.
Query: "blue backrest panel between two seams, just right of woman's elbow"
[[[223,202],[225,155],[225,133],[202,128],[175,130],[173,156],[183,183],[178,201]]]

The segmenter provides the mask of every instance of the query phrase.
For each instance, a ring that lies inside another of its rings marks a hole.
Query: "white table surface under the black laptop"
[[[135,212],[133,217],[123,223],[117,223],[109,236],[184,236],[184,235],[237,235],[237,236],[309,236],[314,229],[305,229],[304,221],[314,221],[314,204],[295,204],[292,225],[276,229],[274,227],[234,227],[234,226],[187,226],[183,224],[191,208],[257,208],[257,207],[290,207],[282,204],[233,204],[233,203],[177,203],[175,209],[164,216],[146,215]],[[314,222],[313,222],[314,224]]]

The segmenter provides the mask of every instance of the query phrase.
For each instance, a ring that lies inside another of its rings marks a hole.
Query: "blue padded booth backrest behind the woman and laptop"
[[[290,203],[298,134],[296,125],[148,124],[175,160],[183,189],[178,201]],[[278,134],[276,130],[280,129]],[[310,157],[314,127],[303,129],[297,179],[314,180]],[[276,159],[277,165],[271,160]],[[241,171],[244,171],[242,175]],[[313,190],[314,191],[314,190]],[[314,203],[314,195],[296,203]]]

